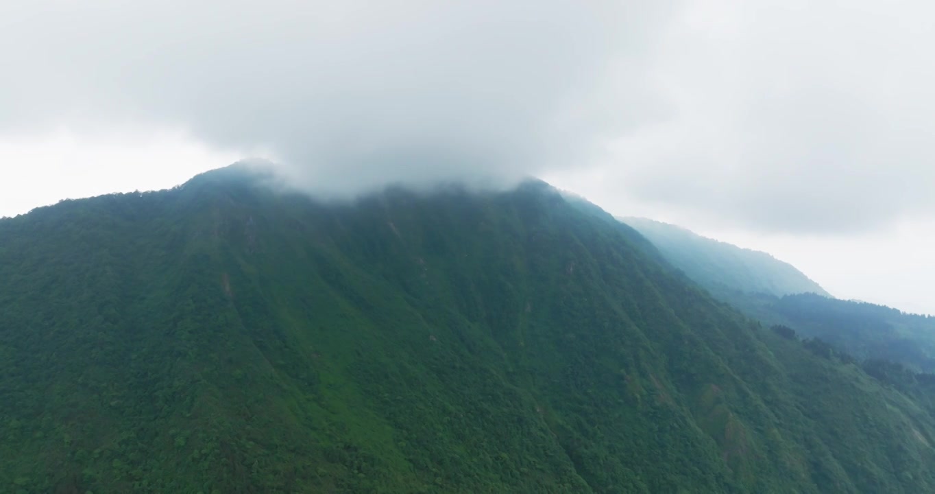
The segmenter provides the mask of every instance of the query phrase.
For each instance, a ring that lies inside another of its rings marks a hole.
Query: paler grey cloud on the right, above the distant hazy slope
[[[844,234],[935,218],[927,2],[694,2],[652,71],[676,114],[605,181],[693,224]]]

